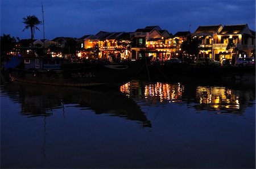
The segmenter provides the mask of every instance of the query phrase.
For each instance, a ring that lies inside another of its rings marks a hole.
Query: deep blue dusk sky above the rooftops
[[[1,35],[30,38],[24,17],[42,20],[41,0],[0,0]],[[255,30],[255,0],[43,0],[46,39],[98,31],[133,32],[158,25],[170,33],[198,26],[245,24]],[[43,38],[43,25],[35,39]]]

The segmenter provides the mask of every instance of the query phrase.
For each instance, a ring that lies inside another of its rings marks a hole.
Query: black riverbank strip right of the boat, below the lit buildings
[[[152,82],[242,84],[255,87],[255,66],[150,65],[136,78]]]

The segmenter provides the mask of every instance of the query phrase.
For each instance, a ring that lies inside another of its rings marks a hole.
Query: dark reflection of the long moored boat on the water
[[[118,91],[96,91],[85,88],[55,87],[14,82],[2,89],[14,102],[21,104],[21,114],[28,117],[51,116],[53,109],[65,107],[91,109],[96,114],[122,117],[139,121],[143,127],[151,127],[141,108]]]

